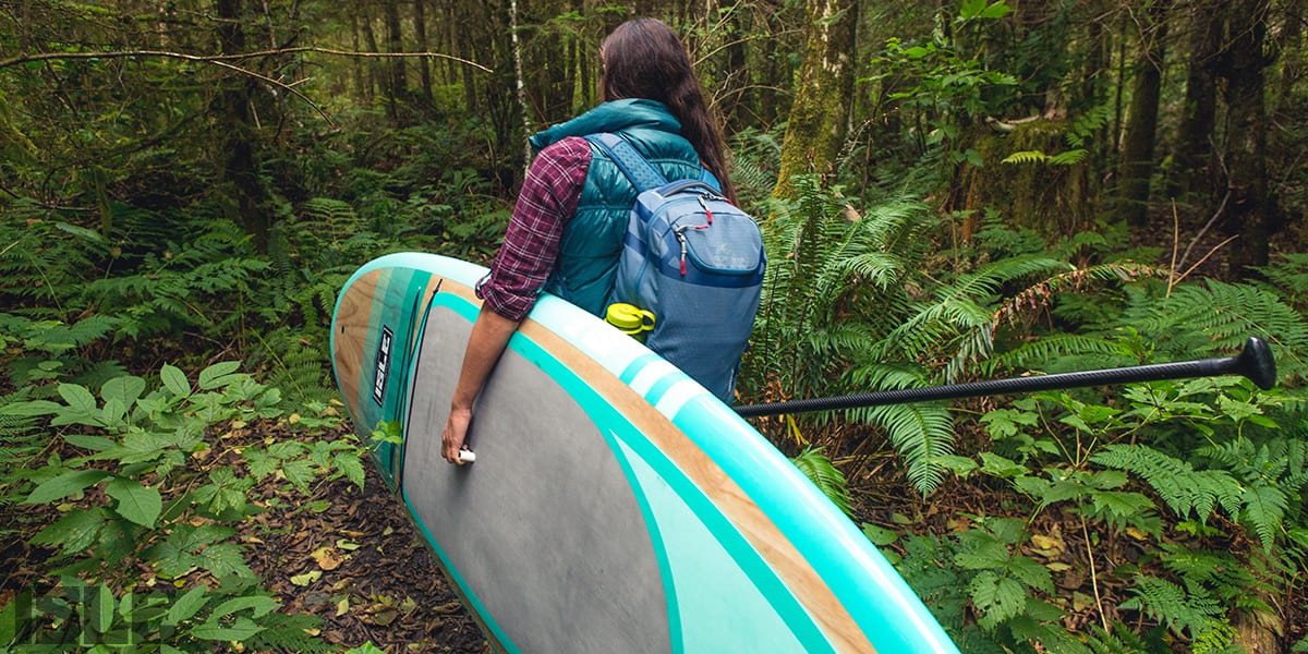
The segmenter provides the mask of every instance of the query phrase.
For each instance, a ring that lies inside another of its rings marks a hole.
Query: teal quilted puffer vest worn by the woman
[[[532,136],[531,145],[539,152],[568,136],[613,132],[630,141],[668,181],[697,178],[700,158],[680,131],[681,124],[661,102],[620,99]],[[590,170],[577,213],[564,226],[559,259],[545,290],[595,315],[604,314],[634,200],[636,187],[607,154],[591,145]]]

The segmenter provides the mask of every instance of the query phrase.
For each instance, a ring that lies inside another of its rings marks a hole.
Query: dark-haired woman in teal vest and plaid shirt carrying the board
[[[484,303],[442,433],[450,463],[463,463],[472,404],[540,290],[603,315],[636,188],[586,135],[617,133],[667,179],[698,178],[706,167],[735,200],[721,128],[678,35],[637,18],[619,25],[599,56],[604,103],[531,137],[538,156],[490,273],[477,285]]]

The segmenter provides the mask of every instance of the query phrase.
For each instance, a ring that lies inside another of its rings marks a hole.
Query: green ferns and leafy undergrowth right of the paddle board
[[[1177,281],[1109,237],[1050,246],[994,217],[940,250],[947,224],[909,196],[797,188],[764,218],[747,404],[1226,358],[1250,336],[1277,358],[1273,390],[1205,377],[764,424],[803,470],[837,463],[810,475],[872,518],[867,536],[964,651],[1308,647],[1287,602],[1308,590],[1301,256],[1266,281]],[[865,479],[886,454],[903,476]],[[869,483],[916,500],[852,504]]]

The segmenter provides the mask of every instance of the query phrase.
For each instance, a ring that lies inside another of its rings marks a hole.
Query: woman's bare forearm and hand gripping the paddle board
[[[505,318],[485,305],[481,306],[477,320],[472,323],[468,349],[463,353],[459,382],[454,386],[454,399],[450,400],[450,417],[445,421],[445,430],[441,433],[441,455],[445,456],[445,460],[458,466],[463,464],[459,460],[459,450],[468,436],[472,403],[476,402],[487,378],[490,377],[490,370],[500,361],[500,354],[509,345],[509,339],[513,337],[513,332],[518,331],[521,322]]]

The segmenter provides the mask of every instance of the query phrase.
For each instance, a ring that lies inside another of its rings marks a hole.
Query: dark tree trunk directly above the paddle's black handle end
[[[1273,207],[1267,198],[1267,118],[1262,51],[1270,0],[1241,0],[1230,9],[1230,61],[1224,71],[1227,102],[1226,162],[1231,201],[1226,230],[1239,235],[1230,250],[1230,273],[1249,275],[1266,266]]]

